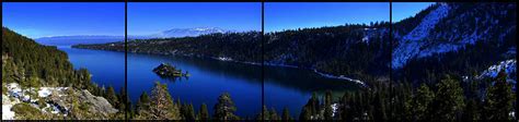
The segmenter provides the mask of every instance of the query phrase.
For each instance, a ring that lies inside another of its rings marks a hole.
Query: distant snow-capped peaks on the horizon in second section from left
[[[173,28],[153,34],[148,37],[151,38],[171,38],[171,37],[194,37],[214,33],[227,33],[228,30],[218,27],[196,27],[196,28]]]

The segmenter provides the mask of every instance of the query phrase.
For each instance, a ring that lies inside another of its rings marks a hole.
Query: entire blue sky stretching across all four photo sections
[[[393,3],[393,22],[432,3]],[[2,2],[2,25],[31,38],[61,35],[124,35],[124,2]],[[261,30],[261,2],[129,2],[128,34],[171,28],[220,27]],[[389,21],[388,2],[265,3],[265,32]]]

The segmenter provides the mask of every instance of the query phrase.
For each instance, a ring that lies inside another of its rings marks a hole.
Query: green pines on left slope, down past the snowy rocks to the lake
[[[113,119],[124,118],[128,102],[126,91],[115,93],[113,87],[105,89],[91,81],[91,74],[86,69],[74,70],[67,53],[57,47],[39,45],[31,38],[2,27],[2,94],[7,94],[7,88],[3,86],[8,83],[18,83],[22,88],[86,89],[92,95],[107,98],[111,105],[119,110],[111,117]],[[70,118],[73,119],[74,115],[81,114],[72,113]]]

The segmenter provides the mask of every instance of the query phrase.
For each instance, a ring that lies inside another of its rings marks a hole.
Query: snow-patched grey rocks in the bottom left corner
[[[79,101],[91,103],[89,112],[100,114],[117,112],[117,109],[113,108],[105,98],[93,96],[88,90],[77,90],[71,87],[22,87],[18,83],[5,84],[5,88],[7,94],[2,94],[2,120],[16,119],[16,113],[12,109],[18,103],[28,103],[43,113],[67,117],[72,105],[64,100],[70,99],[70,97],[77,97],[76,99]],[[44,103],[38,102],[42,100]],[[105,117],[99,119],[105,119]]]

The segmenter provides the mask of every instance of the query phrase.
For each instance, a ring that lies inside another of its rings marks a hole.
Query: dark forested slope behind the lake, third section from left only
[[[365,81],[389,72],[389,23],[344,25],[265,35],[267,64],[296,65]]]

